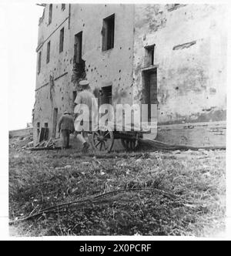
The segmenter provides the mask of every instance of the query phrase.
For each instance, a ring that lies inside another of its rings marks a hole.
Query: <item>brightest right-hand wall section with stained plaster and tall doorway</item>
[[[133,101],[142,99],[145,47],[155,45],[159,140],[226,143],[225,21],[225,5],[135,5]]]

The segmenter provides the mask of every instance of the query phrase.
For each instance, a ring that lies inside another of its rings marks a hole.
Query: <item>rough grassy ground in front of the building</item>
[[[225,150],[82,155],[9,142],[11,235],[224,234]]]

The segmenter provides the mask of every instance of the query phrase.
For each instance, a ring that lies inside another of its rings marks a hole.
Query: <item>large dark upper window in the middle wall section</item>
[[[102,51],[114,48],[115,15],[102,21]]]

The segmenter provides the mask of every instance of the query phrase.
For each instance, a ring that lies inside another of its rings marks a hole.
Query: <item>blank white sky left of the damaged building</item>
[[[8,8],[8,129],[32,122],[35,102],[36,46],[43,8],[12,3]]]

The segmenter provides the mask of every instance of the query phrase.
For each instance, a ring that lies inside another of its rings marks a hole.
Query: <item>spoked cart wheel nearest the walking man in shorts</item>
[[[114,134],[109,130],[92,133],[92,146],[95,150],[110,152],[114,144]]]

